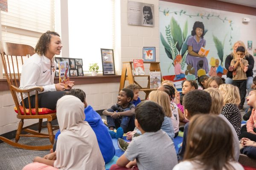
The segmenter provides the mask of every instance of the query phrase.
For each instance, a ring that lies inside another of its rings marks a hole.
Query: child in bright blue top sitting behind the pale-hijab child
[[[92,127],[96,135],[96,138],[99,144],[99,149],[102,153],[105,164],[107,164],[115,156],[116,150],[115,150],[115,147],[113,146],[111,136],[108,133],[108,128],[102,122],[101,116],[96,111],[94,111],[90,105],[87,105],[85,100],[86,94],[81,89],[71,89],[65,95],[76,96],[81,100],[81,102],[84,103],[84,114],[85,114],[84,121],[87,121],[90,127]],[[58,130],[58,132],[55,134],[56,140],[60,133],[61,133],[60,130]],[[57,141],[53,145],[53,151],[55,151],[56,149],[56,143]],[[79,147],[79,146],[76,146],[76,147]]]

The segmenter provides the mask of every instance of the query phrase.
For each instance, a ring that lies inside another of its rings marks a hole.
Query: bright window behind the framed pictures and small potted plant
[[[100,48],[113,49],[113,3],[114,0],[68,1],[69,57],[82,58],[84,71],[89,70],[90,63],[98,63],[102,71]]]

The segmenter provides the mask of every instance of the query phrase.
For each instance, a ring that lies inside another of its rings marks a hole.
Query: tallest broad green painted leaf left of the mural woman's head
[[[171,22],[170,22],[170,27],[171,27],[171,33],[173,37],[173,41],[176,43],[177,42],[177,50],[180,51],[181,46],[183,44],[183,37],[182,37],[182,32],[179,24],[177,21],[172,17]]]

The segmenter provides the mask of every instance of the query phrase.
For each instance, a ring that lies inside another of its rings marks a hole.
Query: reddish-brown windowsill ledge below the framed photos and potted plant
[[[79,76],[70,77],[70,81],[75,81],[75,85],[87,85],[87,84],[98,84],[98,83],[110,83],[110,82],[120,82],[121,76],[111,75],[111,76]],[[58,83],[58,77],[54,78],[54,83]],[[17,82],[20,86],[20,82]],[[0,91],[8,91],[9,85],[6,79],[0,79]]]

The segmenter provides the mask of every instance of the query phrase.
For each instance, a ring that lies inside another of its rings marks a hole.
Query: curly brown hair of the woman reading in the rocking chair
[[[46,31],[46,33],[42,34],[41,37],[38,40],[38,43],[35,45],[35,53],[38,55],[44,55],[47,51],[47,46],[51,42],[51,35],[57,35],[60,37],[60,35],[57,32],[54,31]]]

